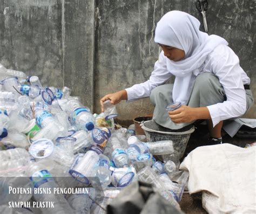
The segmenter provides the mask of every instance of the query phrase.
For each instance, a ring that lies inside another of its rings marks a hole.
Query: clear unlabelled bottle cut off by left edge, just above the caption
[[[30,155],[22,148],[0,151],[0,177],[24,175]]]

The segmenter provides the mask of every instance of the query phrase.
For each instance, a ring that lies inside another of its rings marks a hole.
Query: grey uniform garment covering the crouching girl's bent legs
[[[154,88],[150,95],[150,100],[154,105],[153,120],[159,125],[170,129],[180,129],[191,123],[174,123],[169,118],[169,114],[165,110],[165,106],[173,102],[172,99],[173,84],[165,84]],[[247,110],[253,104],[253,96],[251,90],[246,91]],[[192,87],[190,98],[187,106],[205,107],[224,102],[226,95],[219,79],[212,73],[205,72],[197,76]],[[235,119],[235,118],[233,118]]]

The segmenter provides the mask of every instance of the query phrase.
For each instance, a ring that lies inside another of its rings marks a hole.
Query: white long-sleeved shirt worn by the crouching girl
[[[150,96],[152,89],[159,85],[163,85],[172,73],[166,68],[166,60],[162,51],[159,60],[154,64],[154,71],[151,73],[150,79],[126,88],[127,101],[133,101],[140,98]],[[227,100],[222,103],[216,103],[207,106],[213,127],[220,121],[237,118],[246,112],[246,93],[244,85],[250,84],[250,78],[242,70],[239,65],[239,58],[230,47],[219,45],[208,54],[200,73],[211,72],[215,74],[223,86]],[[187,94],[191,93],[194,78],[191,78],[190,86]],[[187,97],[188,97],[187,95]]]

